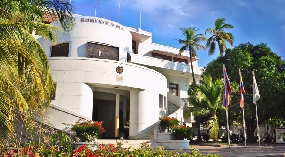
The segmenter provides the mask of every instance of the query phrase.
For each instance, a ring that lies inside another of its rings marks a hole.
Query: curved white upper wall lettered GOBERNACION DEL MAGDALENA
[[[76,26],[69,36],[62,35],[59,43],[69,43],[69,57],[86,57],[87,42],[96,42],[109,46],[119,47],[119,61],[127,62],[127,53],[132,50],[132,35],[119,23],[88,16],[75,17]],[[59,26],[56,23],[52,25]],[[42,47],[47,56],[50,56],[52,42],[43,40]]]

